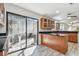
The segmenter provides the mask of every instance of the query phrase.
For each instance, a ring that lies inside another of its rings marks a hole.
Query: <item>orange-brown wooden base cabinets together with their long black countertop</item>
[[[58,50],[65,54],[68,50],[68,42],[78,42],[77,31],[40,31],[41,45]]]

